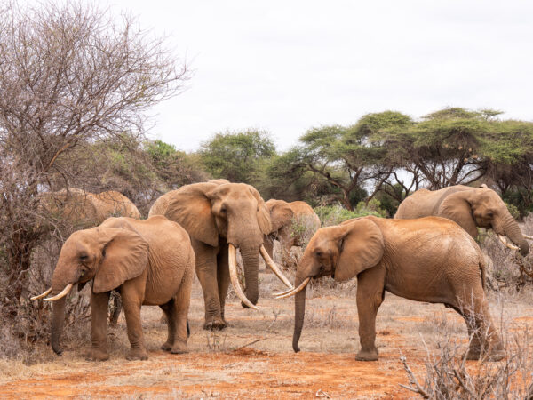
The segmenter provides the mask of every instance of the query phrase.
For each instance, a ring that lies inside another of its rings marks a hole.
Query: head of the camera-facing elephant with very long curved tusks
[[[190,236],[204,244],[216,247],[220,236],[226,239],[231,282],[243,307],[254,307],[259,299],[259,252],[283,283],[290,286],[262,246],[264,235],[272,230],[270,213],[259,192],[250,185],[224,180],[187,185],[172,192],[164,215],[179,222]],[[235,248],[243,256],[245,296],[236,287]]]

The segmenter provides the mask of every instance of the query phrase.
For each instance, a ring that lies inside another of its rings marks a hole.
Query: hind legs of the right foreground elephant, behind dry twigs
[[[454,307],[465,319],[468,335],[471,338],[466,359],[478,360],[486,356],[490,361],[499,361],[505,357],[505,351],[490,317],[489,303],[481,285],[470,293],[468,295],[465,291],[458,299],[460,306]]]

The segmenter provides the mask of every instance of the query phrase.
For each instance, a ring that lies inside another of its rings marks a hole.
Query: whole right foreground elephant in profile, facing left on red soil
[[[378,360],[376,315],[385,292],[409,300],[443,303],[455,309],[473,335],[466,357],[499,360],[505,352],[489,314],[484,292],[485,267],[479,246],[451,220],[361,217],[318,229],[298,264],[296,289],[277,293],[276,297],[296,296],[292,339],[295,352],[299,351],[306,284],[310,279],[332,276],[336,281],[344,281],[357,276],[361,342],[357,360]]]

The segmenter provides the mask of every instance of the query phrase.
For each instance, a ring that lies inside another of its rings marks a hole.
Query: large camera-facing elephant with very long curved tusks
[[[204,329],[226,327],[224,306],[230,282],[243,307],[257,309],[259,255],[291,287],[263,247],[263,237],[271,231],[270,212],[250,185],[227,180],[187,185],[157,199],[149,215],[155,214],[175,220],[191,236],[203,289]],[[237,248],[243,257],[245,292],[237,277]]]

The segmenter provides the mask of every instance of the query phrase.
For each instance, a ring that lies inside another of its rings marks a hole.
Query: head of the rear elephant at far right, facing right
[[[492,228],[498,236],[509,237],[520,247],[522,255],[529,252],[529,244],[504,201],[485,185],[447,196],[439,206],[438,215],[456,221],[473,237],[477,236],[477,227]]]

